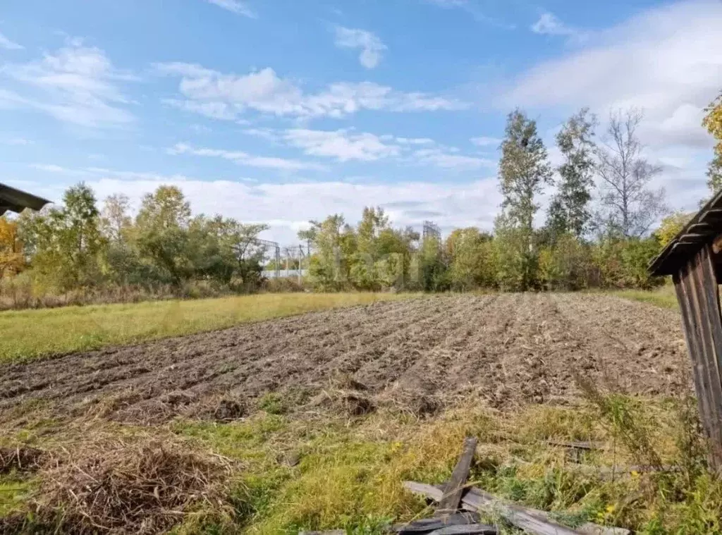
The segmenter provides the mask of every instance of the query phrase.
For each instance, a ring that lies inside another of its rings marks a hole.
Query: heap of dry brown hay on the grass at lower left
[[[233,468],[173,442],[95,443],[38,472],[38,510],[64,533],[161,533],[189,513],[230,514]]]

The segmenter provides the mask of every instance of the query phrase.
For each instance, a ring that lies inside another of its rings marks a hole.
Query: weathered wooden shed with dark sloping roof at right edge
[[[654,275],[671,275],[692,359],[710,464],[722,469],[722,192],[710,199],[651,261]]]

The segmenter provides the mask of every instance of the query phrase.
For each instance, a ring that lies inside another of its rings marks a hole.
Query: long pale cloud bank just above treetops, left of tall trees
[[[135,178],[131,178],[134,175]],[[145,178],[143,176],[145,175]],[[121,176],[127,178],[121,178]],[[269,222],[265,238],[283,245],[297,243],[296,232],[309,219],[344,214],[355,224],[364,206],[385,206],[394,225],[412,225],[421,230],[424,219],[433,219],[443,228],[479,226],[490,230],[500,203],[495,178],[471,183],[427,183],[399,180],[398,183],[326,181],[282,184],[250,184],[232,180],[200,180],[186,176],[131,173],[106,170],[86,178],[98,199],[123,191],[139,206],[145,193],[161,183],[181,188],[193,212],[235,217],[243,222]],[[10,185],[14,183],[9,181]],[[48,183],[23,183],[27,189],[48,199],[60,199],[74,179]],[[20,186],[19,183],[17,183]]]

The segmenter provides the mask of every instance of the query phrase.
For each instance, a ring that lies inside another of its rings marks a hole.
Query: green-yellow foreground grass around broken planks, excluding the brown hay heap
[[[716,501],[722,492],[719,480],[692,477],[691,472],[668,479],[599,476],[593,466],[640,464],[622,440],[624,426],[632,420],[665,464],[678,464],[684,454],[675,442],[679,422],[674,402],[621,397],[615,402],[627,415],[623,421],[606,418],[593,406],[538,406],[516,414],[469,406],[429,421],[384,412],[349,425],[342,418],[303,420],[258,413],[244,422],[177,422],[173,429],[243,464],[235,521],[204,533],[240,529],[254,535],[297,534],[342,528],[350,534],[380,534],[389,522],[430,516],[432,511],[409,495],[402,482],[448,479],[467,435],[479,438],[471,482],[551,511],[568,526],[593,521],[650,535],[716,532],[722,507]],[[570,460],[547,439],[596,440],[606,449]],[[287,463],[287,458],[297,464]],[[575,461],[588,470],[578,469]],[[199,532],[186,527],[181,532]],[[516,531],[503,526],[502,533]]]

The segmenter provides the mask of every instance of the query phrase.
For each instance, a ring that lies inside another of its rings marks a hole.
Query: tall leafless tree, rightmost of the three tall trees
[[[649,187],[661,168],[643,157],[637,136],[642,119],[635,108],[611,113],[606,139],[596,148],[604,230],[627,238],[644,235],[668,212],[664,188]]]

